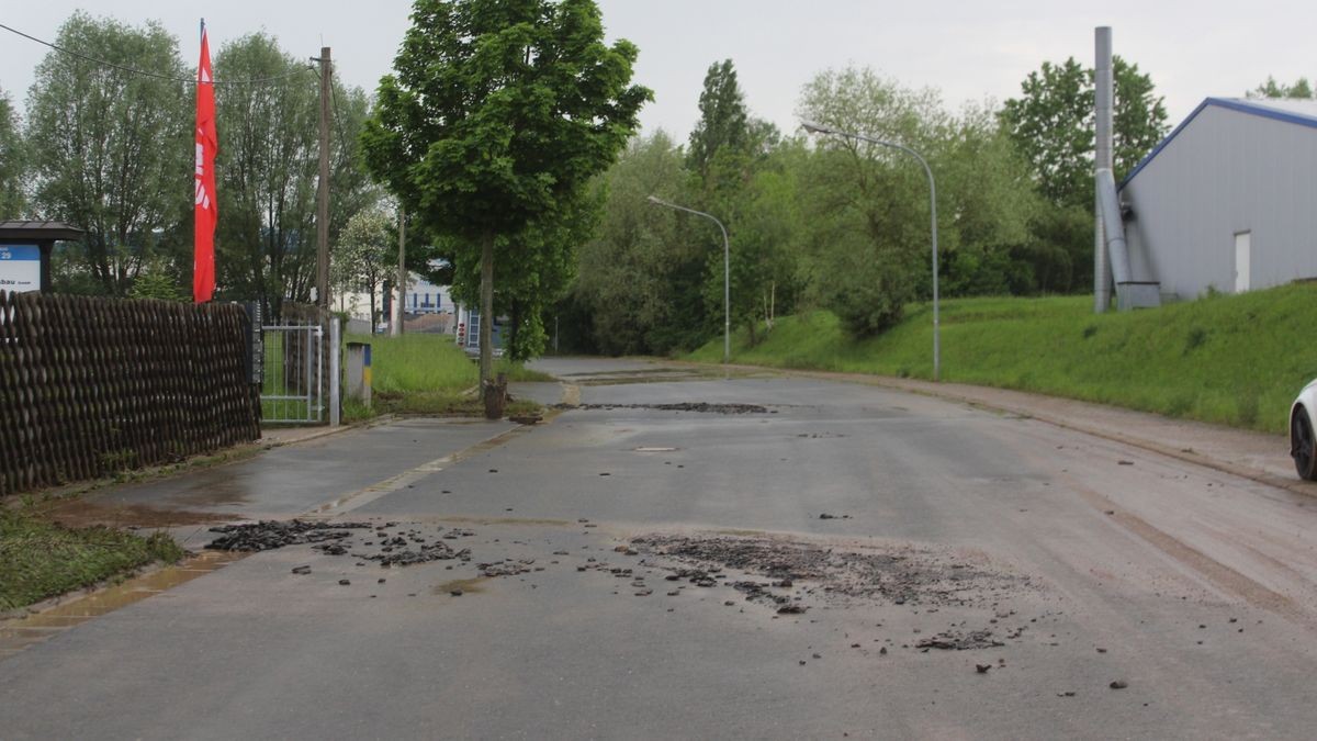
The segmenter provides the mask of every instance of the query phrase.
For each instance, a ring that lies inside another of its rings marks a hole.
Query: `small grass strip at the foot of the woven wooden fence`
[[[67,529],[30,508],[0,505],[0,612],[183,556],[166,533],[144,538],[103,526]]]

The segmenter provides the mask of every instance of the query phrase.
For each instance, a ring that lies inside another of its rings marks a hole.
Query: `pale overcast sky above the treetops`
[[[789,131],[801,87],[818,71],[868,66],[909,87],[935,87],[951,108],[1002,100],[1043,61],[1093,62],[1093,28],[1113,28],[1115,53],[1151,74],[1179,123],[1206,96],[1242,96],[1275,75],[1317,75],[1317,3],[1255,0],[599,0],[610,38],[640,47],[636,82],[655,91],[645,131],[685,138],[711,62],[731,58],[755,115]],[[198,55],[204,15],[211,49],[265,29],[284,50],[333,50],[337,74],[373,91],[410,25],[410,0],[14,0],[0,22],[54,40],[75,9],[129,24],[161,21]],[[47,49],[0,29],[0,90],[22,104]]]

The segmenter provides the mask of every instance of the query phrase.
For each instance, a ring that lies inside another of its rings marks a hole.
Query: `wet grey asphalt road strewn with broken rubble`
[[[392,525],[0,658],[0,737],[1317,728],[1317,500],[893,390],[547,368],[518,393],[583,406],[536,427],[404,421],[96,497]],[[763,409],[662,406],[698,402]],[[398,537],[469,552],[367,559]]]

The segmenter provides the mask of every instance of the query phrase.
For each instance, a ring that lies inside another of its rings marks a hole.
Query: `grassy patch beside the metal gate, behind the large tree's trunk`
[[[352,341],[370,343],[371,396],[374,410],[356,403],[345,406],[349,419],[370,417],[371,413],[395,414],[461,414],[478,417],[485,413],[479,396],[474,393],[479,382],[479,367],[449,335],[412,334],[400,338],[353,336]],[[495,361],[495,373],[507,373],[508,381],[552,381],[553,378],[531,370],[520,363]],[[532,402],[514,401],[508,414],[524,414],[539,409]]]

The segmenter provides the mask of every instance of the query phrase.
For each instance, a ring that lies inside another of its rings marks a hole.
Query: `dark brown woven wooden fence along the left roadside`
[[[236,305],[0,291],[0,496],[261,436]]]

